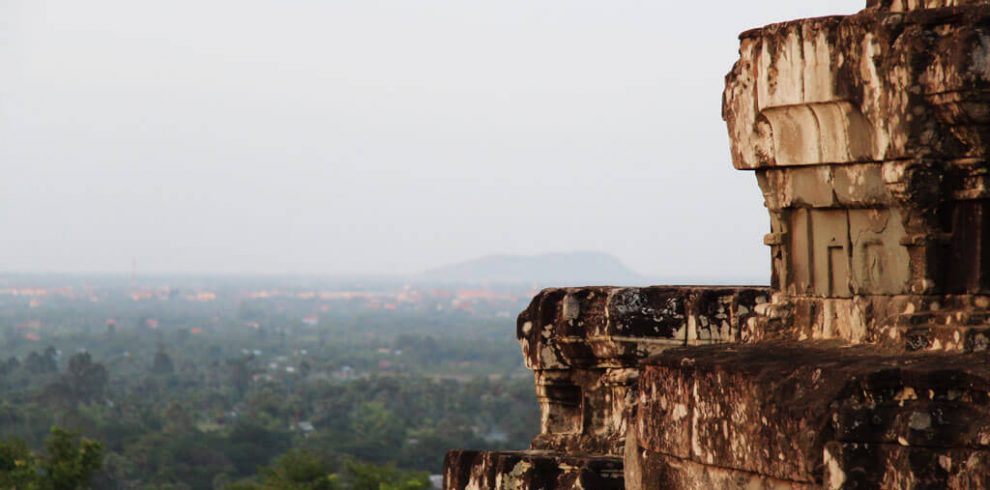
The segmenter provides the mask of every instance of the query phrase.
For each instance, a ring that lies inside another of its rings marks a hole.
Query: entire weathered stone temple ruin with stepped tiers
[[[447,489],[990,488],[990,0],[741,35],[770,288],[541,292],[540,434]]]

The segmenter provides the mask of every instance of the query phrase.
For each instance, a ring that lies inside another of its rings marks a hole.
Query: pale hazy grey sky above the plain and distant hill
[[[763,278],[737,34],[863,0],[0,0],[0,271]]]

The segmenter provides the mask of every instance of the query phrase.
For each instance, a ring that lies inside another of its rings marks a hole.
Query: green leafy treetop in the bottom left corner
[[[100,470],[100,443],[63,429],[52,428],[44,456],[34,454],[24,441],[0,441],[0,488],[23,490],[77,490],[89,488]]]

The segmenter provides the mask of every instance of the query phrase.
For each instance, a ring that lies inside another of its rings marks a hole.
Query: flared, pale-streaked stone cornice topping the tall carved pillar
[[[910,166],[923,156],[985,156],[988,13],[986,2],[867,9],[744,33],[725,92],[734,164]],[[904,172],[883,170],[892,181]],[[871,188],[879,193],[863,195],[885,194]]]

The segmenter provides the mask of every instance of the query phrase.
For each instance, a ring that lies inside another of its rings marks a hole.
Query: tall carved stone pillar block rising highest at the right
[[[888,1],[742,35],[723,115],[770,211],[779,303],[846,326],[797,315],[794,340],[893,325],[843,317],[857,301],[988,292],[988,22],[987,2]]]

